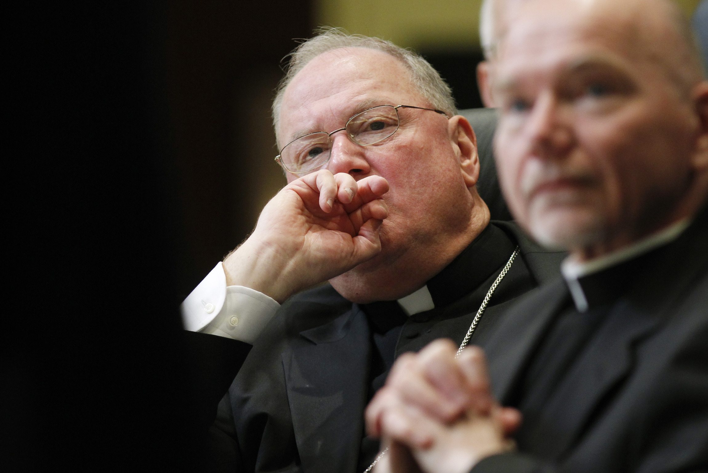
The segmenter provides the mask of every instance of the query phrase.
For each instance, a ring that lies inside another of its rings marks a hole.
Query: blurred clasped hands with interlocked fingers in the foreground
[[[438,340],[396,360],[366,411],[367,433],[389,448],[373,473],[467,473],[514,448],[521,416],[493,398],[484,352],[456,351]]]

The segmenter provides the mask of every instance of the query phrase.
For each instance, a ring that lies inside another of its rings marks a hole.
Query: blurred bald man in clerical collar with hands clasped
[[[664,0],[486,8],[504,194],[570,256],[484,352],[399,358],[367,409],[377,472],[708,471],[708,81],[688,23]]]

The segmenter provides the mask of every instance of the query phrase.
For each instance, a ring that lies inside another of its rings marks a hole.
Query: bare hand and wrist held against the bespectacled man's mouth
[[[249,239],[224,261],[227,285],[243,285],[278,302],[329,280],[381,251],[388,216],[386,179],[355,181],[326,170],[292,181],[263,208]]]

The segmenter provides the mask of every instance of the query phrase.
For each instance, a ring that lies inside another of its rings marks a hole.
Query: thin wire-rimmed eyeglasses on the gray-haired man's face
[[[347,136],[360,146],[377,144],[392,136],[399,129],[399,108],[417,108],[430,110],[436,113],[447,114],[435,108],[414,107],[411,105],[379,105],[357,113],[347,120],[344,127],[333,132],[308,133],[293,139],[275,156],[275,161],[293,174],[302,174],[324,166],[332,150],[332,135],[336,132],[346,131]]]

